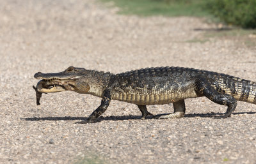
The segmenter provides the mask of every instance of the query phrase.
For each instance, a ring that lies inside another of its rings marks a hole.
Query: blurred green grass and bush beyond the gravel
[[[152,16],[211,17],[215,22],[256,28],[255,0],[102,0],[120,8],[118,13]]]

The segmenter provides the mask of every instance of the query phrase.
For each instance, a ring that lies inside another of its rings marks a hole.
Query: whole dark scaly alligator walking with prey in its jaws
[[[60,73],[35,73],[38,84],[36,103],[42,93],[75,91],[102,98],[100,106],[81,123],[93,123],[108,108],[111,100],[134,103],[140,109],[141,119],[180,118],[185,115],[185,99],[205,96],[214,103],[226,105],[224,115],[230,117],[238,101],[256,104],[256,82],[223,73],[183,67],[156,67],[113,74],[70,66]],[[173,103],[172,114],[153,116],[146,105]]]

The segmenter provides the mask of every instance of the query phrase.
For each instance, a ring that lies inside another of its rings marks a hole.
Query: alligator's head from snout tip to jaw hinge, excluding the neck
[[[84,79],[82,79],[85,76],[86,70],[84,68],[76,68],[73,66],[59,73],[38,72],[34,77],[40,81],[34,89],[39,93],[56,93],[61,91],[87,93],[90,87],[84,82]]]

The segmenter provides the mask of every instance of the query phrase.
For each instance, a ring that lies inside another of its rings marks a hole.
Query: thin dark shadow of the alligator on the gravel
[[[237,114],[256,114],[256,112],[236,112],[232,113],[234,115]],[[166,115],[166,114],[160,114],[160,115]],[[157,115],[157,116],[160,116]],[[186,114],[185,117],[214,117],[216,115],[223,115],[223,113],[207,113],[207,114]],[[140,119],[141,116],[106,116],[102,117],[100,116],[97,118],[97,123],[100,121],[107,121],[107,120],[112,120],[112,121],[123,121],[123,120],[132,120],[132,119]],[[77,120],[77,121],[83,121],[88,119],[88,117],[28,117],[28,118],[20,118],[25,121],[69,121],[69,120]],[[148,119],[152,119],[152,116],[148,116]]]

